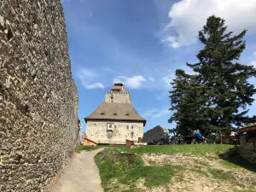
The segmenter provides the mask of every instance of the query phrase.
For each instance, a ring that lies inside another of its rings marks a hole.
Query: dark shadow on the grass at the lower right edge
[[[256,172],[256,164],[243,158],[241,154],[237,153],[236,148],[232,148],[229,152],[220,154],[219,158],[234,164],[234,166],[240,166],[248,171]]]

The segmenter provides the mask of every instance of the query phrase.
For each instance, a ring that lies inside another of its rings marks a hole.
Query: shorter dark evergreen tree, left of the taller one
[[[205,118],[204,97],[201,96],[201,86],[197,83],[196,75],[189,75],[183,70],[176,71],[170,91],[170,110],[174,111],[169,123],[176,121],[177,134],[189,135],[191,131],[204,129],[207,125]]]

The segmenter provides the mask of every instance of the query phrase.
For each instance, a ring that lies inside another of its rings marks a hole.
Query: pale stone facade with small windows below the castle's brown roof
[[[143,127],[143,122],[87,120],[86,137],[96,143],[125,144],[126,139],[138,142]]]

